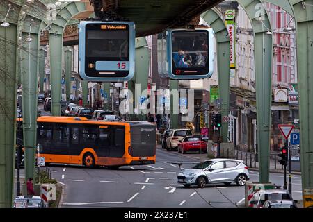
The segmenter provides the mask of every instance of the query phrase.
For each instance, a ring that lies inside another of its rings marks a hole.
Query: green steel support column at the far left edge
[[[7,11],[0,5],[0,11]],[[15,165],[17,26],[0,27],[0,208],[12,207]]]

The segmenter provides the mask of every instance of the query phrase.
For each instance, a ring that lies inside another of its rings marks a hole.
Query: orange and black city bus
[[[148,122],[38,117],[37,142],[45,163],[86,167],[155,164],[156,126]]]

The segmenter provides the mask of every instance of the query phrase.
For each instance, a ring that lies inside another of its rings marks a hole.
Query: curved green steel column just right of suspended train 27
[[[215,33],[218,59],[218,90],[220,94],[220,114],[228,116],[230,107],[230,37],[223,19],[214,11],[208,10],[201,15]],[[221,136],[227,141],[228,122],[222,122]]]

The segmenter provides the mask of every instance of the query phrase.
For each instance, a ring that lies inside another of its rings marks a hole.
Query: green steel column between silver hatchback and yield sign
[[[257,99],[257,144],[259,149],[259,182],[269,182],[269,149],[271,133],[273,37],[266,9],[259,0],[238,0],[246,11],[255,36],[255,83]]]

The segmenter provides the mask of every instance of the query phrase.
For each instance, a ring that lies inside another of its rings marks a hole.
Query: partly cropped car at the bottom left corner
[[[26,208],[45,208],[45,203],[40,196],[17,196],[14,200],[13,207],[26,206]],[[23,208],[23,207],[22,207]]]

